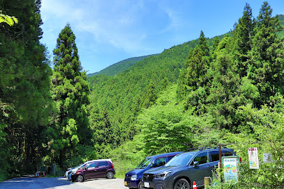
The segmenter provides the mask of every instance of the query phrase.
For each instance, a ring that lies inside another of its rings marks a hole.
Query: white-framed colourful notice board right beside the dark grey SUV
[[[239,163],[239,156],[225,156],[222,157],[223,172],[225,181],[237,182],[237,169]]]

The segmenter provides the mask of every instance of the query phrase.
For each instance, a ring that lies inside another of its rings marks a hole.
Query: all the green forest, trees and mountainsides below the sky
[[[40,6],[0,2],[1,14],[17,18],[0,19],[0,181],[97,158],[111,158],[123,178],[149,154],[221,143],[243,163],[238,183],[214,187],[283,188],[284,16],[272,17],[267,1],[259,15],[246,3],[229,33],[200,31],[88,77],[70,24],[50,59]],[[273,163],[249,170],[248,147]]]

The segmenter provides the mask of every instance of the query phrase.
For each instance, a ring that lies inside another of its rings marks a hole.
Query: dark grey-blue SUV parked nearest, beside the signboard
[[[233,149],[222,148],[222,156],[233,156]],[[204,186],[204,177],[212,176],[212,170],[218,165],[219,149],[199,149],[178,154],[163,167],[143,173],[141,186],[147,189],[192,188]]]

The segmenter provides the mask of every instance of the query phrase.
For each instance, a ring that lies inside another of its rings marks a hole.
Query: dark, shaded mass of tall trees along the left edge
[[[0,179],[33,172],[44,150],[51,95],[45,46],[40,44],[40,1],[0,1],[19,24],[0,23]],[[6,12],[7,11],[7,12]]]

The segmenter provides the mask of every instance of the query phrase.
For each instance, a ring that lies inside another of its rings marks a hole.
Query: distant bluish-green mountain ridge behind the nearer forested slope
[[[87,74],[87,76],[100,76],[100,75],[106,75],[106,76],[115,76],[116,74],[120,74],[125,69],[131,67],[135,63],[139,62],[140,60],[143,60],[144,58],[147,58],[152,55],[147,56],[139,56],[134,58],[127,58],[126,60],[121,60],[118,63],[115,63],[113,65],[110,65],[107,68],[102,69],[100,72],[95,72],[93,74]]]

